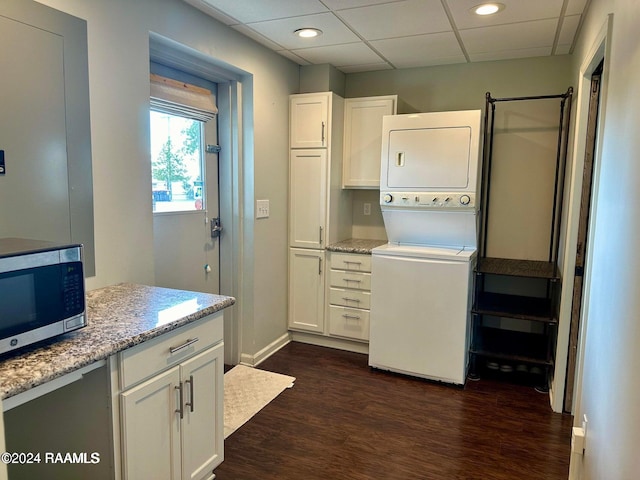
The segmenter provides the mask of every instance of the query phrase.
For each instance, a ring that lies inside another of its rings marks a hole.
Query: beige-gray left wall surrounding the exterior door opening
[[[248,208],[244,221],[252,243],[242,264],[250,291],[238,299],[250,303],[242,309],[242,352],[253,354],[286,333],[288,95],[298,89],[298,66],[180,0],[41,3],[87,20],[96,238],[96,276],[87,279],[87,287],[154,281],[148,117],[152,31],[253,77],[255,128],[253,141],[247,142],[253,149],[244,152],[248,190],[242,201],[251,207],[254,198],[268,198],[271,216],[254,223]]]

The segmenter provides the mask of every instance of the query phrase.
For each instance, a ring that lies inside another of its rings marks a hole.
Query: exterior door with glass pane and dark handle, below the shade
[[[201,123],[202,134],[198,142],[202,157],[201,174],[191,173],[182,182],[166,182],[157,180],[157,169],[154,173],[152,197],[156,285],[219,293],[220,241],[211,236],[211,225],[219,217],[218,154],[205,152],[205,145],[218,143],[217,118],[198,123]],[[178,133],[181,131],[178,128]],[[161,142],[158,140],[156,143]],[[154,151],[153,143],[152,121],[152,163],[161,155],[157,147]],[[182,144],[183,140],[173,140],[173,151],[180,152]]]

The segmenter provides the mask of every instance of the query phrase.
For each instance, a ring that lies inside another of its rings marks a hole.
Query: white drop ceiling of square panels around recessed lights
[[[299,65],[345,73],[572,53],[590,0],[184,0]],[[294,30],[315,27],[312,39]]]

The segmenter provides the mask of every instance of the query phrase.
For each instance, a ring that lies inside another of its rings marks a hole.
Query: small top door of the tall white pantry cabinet
[[[326,147],[329,143],[329,94],[292,96],[289,121],[291,148]]]

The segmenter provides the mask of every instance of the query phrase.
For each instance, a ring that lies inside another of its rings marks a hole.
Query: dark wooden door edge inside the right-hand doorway
[[[584,167],[582,173],[582,192],[580,196],[580,218],[578,220],[578,244],[576,247],[576,270],[573,280],[573,299],[571,303],[571,326],[569,327],[569,352],[567,358],[567,380],[564,392],[564,411],[571,412],[575,386],[576,358],[582,312],[582,294],[584,290],[584,264],[587,254],[589,212],[591,210],[591,192],[593,187],[593,159],[596,152],[598,132],[598,110],[600,106],[600,84],[602,67],[600,63],[591,77],[589,97],[589,117],[587,120],[587,144],[585,146]]]

